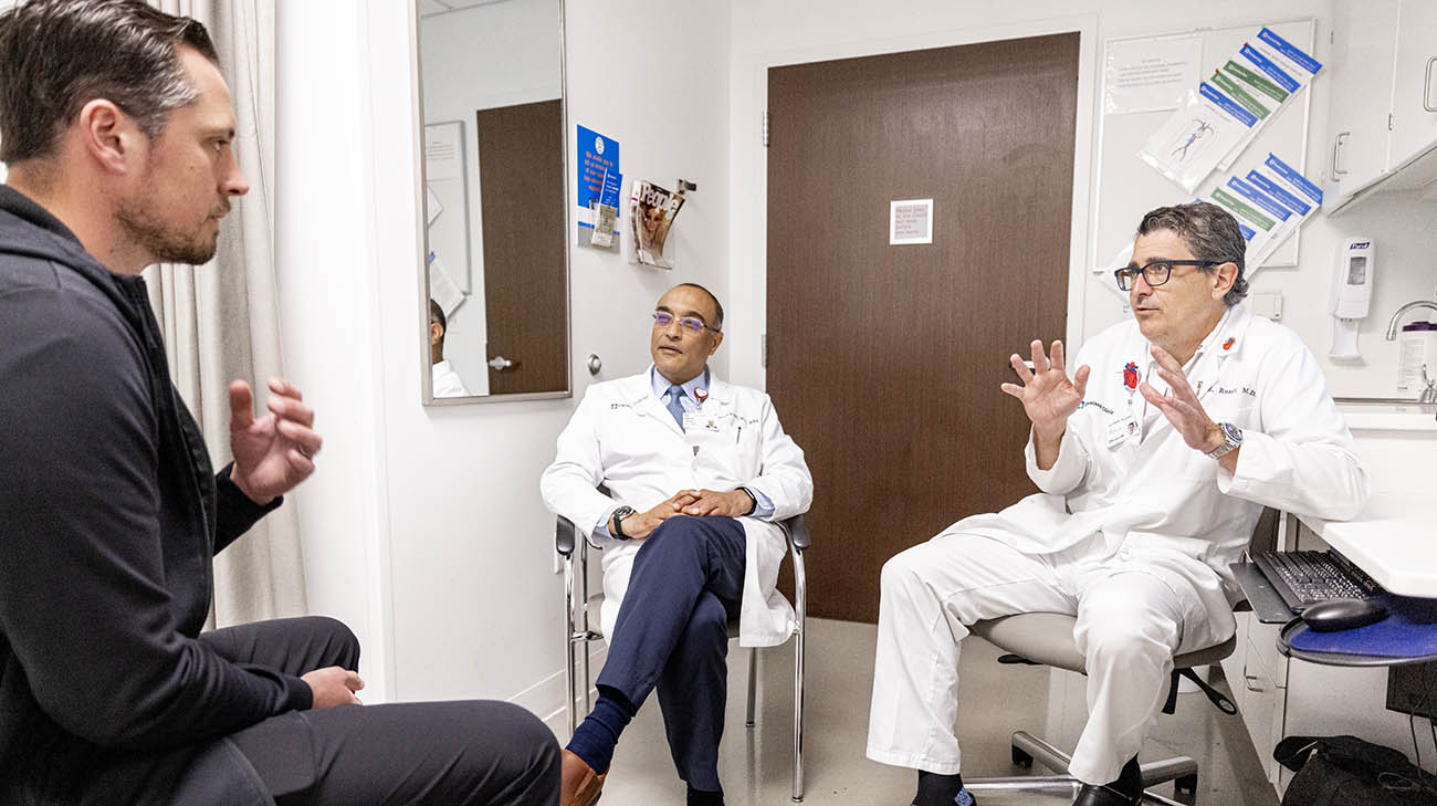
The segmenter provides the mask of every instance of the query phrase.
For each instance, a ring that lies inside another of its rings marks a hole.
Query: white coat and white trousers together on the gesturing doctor
[[[954,638],[994,615],[1076,612],[1081,651],[1094,629],[1141,636],[1131,657],[1121,655],[1122,668],[1111,668],[1118,655],[1096,658],[1096,667],[1089,657],[1091,715],[1069,770],[1091,783],[1112,780],[1157,717],[1171,651],[1232,636],[1230,605],[1240,592],[1229,565],[1260,504],[1326,519],[1362,507],[1368,481],[1352,435],[1293,332],[1239,305],[1184,368],[1207,415],[1243,430],[1236,473],[1190,448],[1144,401],[1138,382],[1167,392],[1148,351],[1132,320],[1083,345],[1068,372],[1086,363],[1092,374],[1058,461],[1039,470],[1033,445],[1026,448],[1027,474],[1042,491],[966,517],[884,566],[871,759],[958,772]],[[1102,588],[1114,569],[1141,575]]]

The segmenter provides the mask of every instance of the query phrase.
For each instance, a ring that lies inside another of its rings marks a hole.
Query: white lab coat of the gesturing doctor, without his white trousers
[[[1032,443],[1026,450],[1027,476],[1042,493],[966,517],[944,534],[984,534],[1029,553],[1102,534],[1109,553],[1127,546],[1193,557],[1221,580],[1201,590],[1209,635],[1220,642],[1233,634],[1230,605],[1242,596],[1229,565],[1246,549],[1262,506],[1346,520],[1367,501],[1367,471],[1316,359],[1288,328],[1240,303],[1186,368],[1209,418],[1243,430],[1236,473],[1187,447],[1125,382],[1124,368],[1134,363],[1138,382],[1167,392],[1150,346],[1132,320],[1083,345],[1068,371],[1088,365],[1092,375],[1058,461],[1039,470]],[[1129,411],[1131,435],[1122,427]]]

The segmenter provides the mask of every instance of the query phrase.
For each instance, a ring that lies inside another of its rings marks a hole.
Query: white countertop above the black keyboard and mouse
[[[1374,491],[1352,520],[1299,520],[1382,588],[1404,596],[1437,596],[1437,468],[1431,493]]]

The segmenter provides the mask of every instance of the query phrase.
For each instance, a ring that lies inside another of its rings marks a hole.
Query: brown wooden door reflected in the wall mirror
[[[489,392],[569,385],[565,284],[563,111],[558,99],[480,109],[479,188],[484,218]]]

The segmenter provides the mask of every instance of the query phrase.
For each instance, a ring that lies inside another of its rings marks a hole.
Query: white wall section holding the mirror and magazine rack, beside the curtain
[[[578,395],[591,352],[601,379],[648,365],[645,316],[664,289],[726,293],[729,17],[694,4],[650,19],[638,0],[573,1],[568,17],[568,154],[583,124],[621,141],[628,180],[698,184],[673,272],[570,246]],[[326,438],[295,496],[310,603],[361,635],[371,701],[496,697],[549,715],[562,705],[562,578],[537,480],[578,398],[420,405],[414,11],[290,3],[280,26],[286,361]]]

